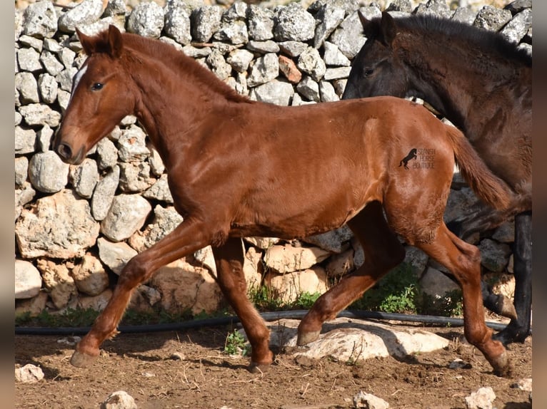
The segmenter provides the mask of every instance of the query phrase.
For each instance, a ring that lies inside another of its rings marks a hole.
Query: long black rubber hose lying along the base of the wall
[[[276,319],[302,319],[308,311],[296,310],[296,311],[273,311],[264,312],[261,314],[262,318],[266,321],[275,321]],[[463,326],[463,319],[451,318],[446,316],[430,316],[430,315],[413,315],[413,314],[395,314],[386,313],[380,311],[358,311],[358,310],[344,310],[338,314],[338,317],[353,318],[353,319],[380,319],[380,320],[393,320],[403,322],[418,322],[428,323],[434,325],[443,326]],[[237,316],[226,316],[212,319],[199,319],[195,321],[184,321],[181,323],[156,323],[149,325],[128,325],[119,326],[118,330],[121,333],[146,333],[146,332],[160,332],[160,331],[180,331],[183,329],[191,328],[204,328],[207,326],[223,326],[231,323],[240,322]],[[496,331],[501,331],[506,327],[506,324],[486,321],[486,325]],[[16,326],[16,335],[84,335],[89,332],[90,326],[84,327],[59,327],[59,328],[45,328],[45,327],[22,327]],[[531,331],[530,331],[531,332]]]

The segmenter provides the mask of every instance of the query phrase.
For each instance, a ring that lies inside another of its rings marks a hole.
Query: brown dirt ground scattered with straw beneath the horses
[[[93,366],[74,368],[64,336],[16,336],[15,363],[42,368],[39,383],[16,383],[16,408],[99,408],[110,393],[125,390],[144,408],[353,408],[359,391],[386,400],[390,408],[466,408],[466,396],[482,386],[496,393],[493,407],[531,408],[530,393],[512,385],[532,377],[532,339],[512,344],[512,378],[498,378],[462,328],[428,328],[448,338],[448,348],[404,361],[373,358],[358,363],[295,357],[274,351],[269,371],[247,371],[249,358],[224,351],[229,327],[120,334],[103,344]],[[179,353],[183,360],[176,360]],[[468,363],[451,369],[455,358]]]

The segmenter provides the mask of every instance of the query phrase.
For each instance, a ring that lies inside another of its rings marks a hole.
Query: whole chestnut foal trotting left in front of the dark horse
[[[347,222],[365,263],[318,299],[298,328],[299,344],[316,339],[323,321],[402,261],[397,232],[453,271],[468,341],[496,373],[510,371],[505,348],[484,322],[478,249],[443,223],[455,157],[478,195],[508,205],[506,185],[460,131],[393,97],[301,107],[258,103],[160,41],[114,26],[79,38],[89,57],[74,78],[54,149],[78,164],[125,115],[136,115],[164,160],[184,222],[126,264],[71,363],[85,366],[99,355],[136,286],[210,244],[219,286],[251,343],[251,368],[266,368],[273,360],[269,330],[246,295],[241,237],[306,237]],[[398,167],[414,147],[430,152],[428,165]]]

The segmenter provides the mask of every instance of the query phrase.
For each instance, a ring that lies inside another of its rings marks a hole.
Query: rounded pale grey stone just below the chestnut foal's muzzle
[[[36,153],[29,162],[29,180],[40,192],[59,192],[69,181],[69,165],[52,150]]]

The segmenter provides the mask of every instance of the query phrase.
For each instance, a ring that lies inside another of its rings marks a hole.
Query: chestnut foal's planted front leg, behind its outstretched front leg
[[[230,237],[221,247],[214,247],[217,280],[231,307],[236,311],[251,343],[251,371],[264,371],[273,361],[269,348],[270,331],[247,297],[243,273],[244,250],[241,239]]]

